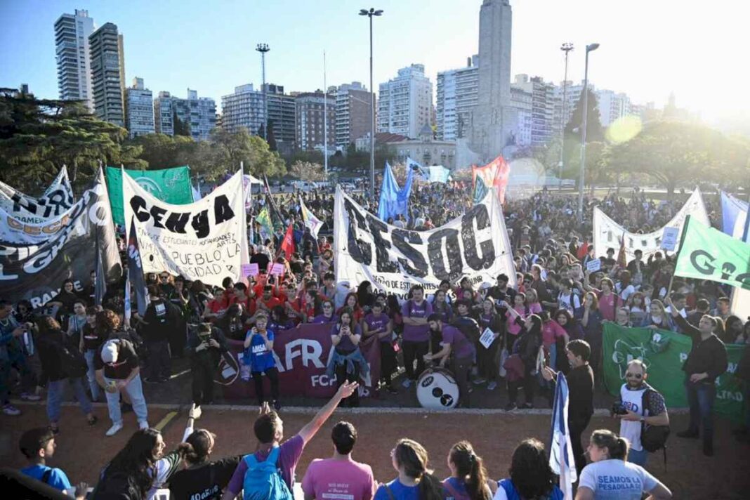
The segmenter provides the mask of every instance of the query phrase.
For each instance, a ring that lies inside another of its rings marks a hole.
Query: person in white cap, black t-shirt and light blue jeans
[[[100,355],[95,359],[95,368],[96,379],[104,388],[107,409],[112,419],[112,427],[107,431],[107,436],[114,436],[122,429],[121,391],[130,397],[139,429],[148,429],[148,409],[145,406],[138,355],[133,343],[124,338],[107,340],[101,346]]]

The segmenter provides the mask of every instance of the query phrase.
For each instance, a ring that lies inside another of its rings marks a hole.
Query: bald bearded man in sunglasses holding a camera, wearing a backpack
[[[619,418],[619,435],[630,442],[628,462],[645,467],[649,453],[640,442],[645,426],[669,425],[669,414],[664,396],[646,384],[648,372],[639,359],[628,363],[625,383],[619,388],[619,400],[613,407],[613,417]]]

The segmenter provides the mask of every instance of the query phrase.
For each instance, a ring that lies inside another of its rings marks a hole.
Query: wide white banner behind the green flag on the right
[[[625,235],[625,255],[628,262],[635,258],[635,250],[643,252],[643,261],[645,262],[653,253],[661,250],[661,238],[664,235],[665,227],[677,229],[676,248],[679,248],[679,240],[682,237],[682,225],[685,224],[685,217],[692,216],[694,220],[710,226],[711,223],[706,213],[706,205],[703,205],[703,196],[700,196],[700,190],[696,187],[693,193],[679,209],[679,212],[672,217],[668,223],[654,232],[638,234],[637,232],[628,232],[614,220],[607,217],[598,207],[594,208],[594,253],[597,257],[607,255],[607,248],[613,248],[615,252],[619,251],[619,242],[622,235]]]

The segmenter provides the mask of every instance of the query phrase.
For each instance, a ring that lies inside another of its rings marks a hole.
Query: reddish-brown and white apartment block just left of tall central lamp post
[[[360,82],[344,83],[336,92],[336,147],[346,149],[370,133],[371,92]]]

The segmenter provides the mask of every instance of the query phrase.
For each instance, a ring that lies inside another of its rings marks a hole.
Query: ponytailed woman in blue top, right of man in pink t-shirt
[[[391,451],[398,478],[381,484],[373,500],[443,500],[443,484],[429,468],[427,450],[411,439],[399,439]]]

